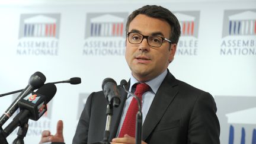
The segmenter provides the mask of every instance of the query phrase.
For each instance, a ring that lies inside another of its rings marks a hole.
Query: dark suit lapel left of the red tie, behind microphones
[[[126,89],[127,89],[127,87],[129,88],[129,85],[130,85],[130,81],[126,85]],[[121,119],[121,114],[123,113],[123,107],[124,107],[124,104],[125,104],[125,101],[127,98],[127,93],[124,91],[124,89],[121,86],[118,88],[119,88],[119,92],[121,95],[121,103],[120,103],[119,107],[113,108],[113,116],[112,116],[111,128],[110,128],[110,142],[114,137],[116,137],[117,129],[119,127],[119,123],[120,123],[120,119]]]

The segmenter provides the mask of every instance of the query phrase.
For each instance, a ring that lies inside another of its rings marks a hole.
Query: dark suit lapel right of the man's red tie
[[[148,138],[156,124],[159,123],[162,116],[165,114],[165,111],[167,110],[169,104],[171,104],[175,95],[177,95],[177,85],[177,80],[168,71],[167,76],[156,92],[155,98],[152,101],[151,107],[149,108],[148,114],[146,115],[146,119],[143,123],[143,140]]]

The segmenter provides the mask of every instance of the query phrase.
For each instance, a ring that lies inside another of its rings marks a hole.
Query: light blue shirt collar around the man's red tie
[[[153,93],[156,94],[156,91],[158,90],[158,88],[162,84],[162,81],[164,81],[164,78],[165,78],[166,75],[167,75],[167,69],[164,72],[162,72],[160,75],[156,76],[155,78],[153,78],[149,81],[146,81],[145,83],[147,85],[149,85],[149,87],[151,87]],[[132,91],[132,86],[134,84],[138,83],[138,82],[139,81],[137,81],[137,79],[135,77],[133,77],[133,75],[131,74],[129,91]]]

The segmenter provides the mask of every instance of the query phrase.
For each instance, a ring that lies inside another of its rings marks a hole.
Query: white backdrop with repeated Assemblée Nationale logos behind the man
[[[65,142],[72,143],[88,95],[100,91],[107,77],[117,83],[129,79],[124,59],[126,21],[134,9],[146,4],[163,5],[180,21],[181,37],[169,70],[215,97],[221,143],[256,143],[253,1],[0,5],[4,21],[0,23],[0,94],[25,88],[36,71],[44,73],[46,82],[82,78],[79,85],[56,84],[47,113],[28,122],[25,143],[38,143],[42,130],[55,133],[59,119],[64,121]],[[0,114],[17,95],[0,98]],[[17,131],[8,136],[9,143]]]

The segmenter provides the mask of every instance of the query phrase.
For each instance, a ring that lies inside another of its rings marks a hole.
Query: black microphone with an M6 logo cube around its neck
[[[26,120],[39,120],[41,116],[47,111],[46,104],[52,100],[56,94],[57,88],[54,84],[44,84],[36,92],[26,95],[18,102],[20,113],[14,117],[7,127],[2,131],[3,135],[7,137],[14,129]]]

